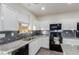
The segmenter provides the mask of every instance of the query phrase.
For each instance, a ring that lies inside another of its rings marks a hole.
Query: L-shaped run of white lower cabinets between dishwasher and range
[[[40,37],[29,43],[29,55],[35,55],[41,47],[49,49],[49,37]]]

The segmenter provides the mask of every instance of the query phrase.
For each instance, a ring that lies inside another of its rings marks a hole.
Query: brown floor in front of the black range
[[[63,53],[41,48],[36,55],[63,55]]]

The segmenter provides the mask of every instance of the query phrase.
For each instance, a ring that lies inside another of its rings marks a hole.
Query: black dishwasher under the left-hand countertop
[[[29,55],[29,44],[13,51],[12,55]]]

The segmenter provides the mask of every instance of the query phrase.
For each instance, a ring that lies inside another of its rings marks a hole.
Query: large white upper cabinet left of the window
[[[4,19],[3,19],[3,24],[4,24],[4,29],[3,30],[16,30],[17,27],[17,18],[16,18],[16,12],[9,8],[6,5],[2,6],[2,14],[1,14]]]

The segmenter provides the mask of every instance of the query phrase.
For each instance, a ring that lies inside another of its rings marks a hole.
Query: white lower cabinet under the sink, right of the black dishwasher
[[[40,49],[40,40],[36,39],[29,44],[29,55],[35,55]]]

